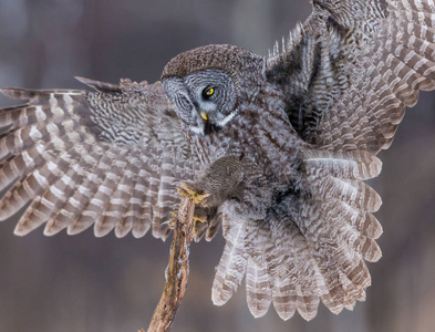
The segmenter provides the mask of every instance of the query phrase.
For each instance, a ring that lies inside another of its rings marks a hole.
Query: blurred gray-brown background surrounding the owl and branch
[[[307,0],[0,0],[0,86],[83,87],[80,75],[149,82],[176,54],[231,43],[267,54],[311,8]],[[4,97],[0,105],[10,105]],[[369,263],[373,286],[353,312],[282,322],[253,319],[245,286],[226,305],[210,289],[224,241],[194,243],[189,289],[174,331],[434,331],[435,93],[422,94],[381,153],[371,185],[383,197],[383,258]],[[0,224],[0,331],[131,331],[147,328],[163,289],[169,241],[92,230],[53,238],[13,236]]]

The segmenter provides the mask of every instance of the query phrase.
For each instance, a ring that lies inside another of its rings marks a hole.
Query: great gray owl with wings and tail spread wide
[[[0,203],[15,234],[94,226],[166,238],[179,194],[195,237],[222,225],[213,284],[224,304],[245,278],[255,317],[271,303],[307,320],[364,300],[377,261],[381,172],[405,106],[435,87],[432,0],[313,0],[269,56],[208,45],[174,58],[162,84],[79,79],[89,91],[3,89]]]

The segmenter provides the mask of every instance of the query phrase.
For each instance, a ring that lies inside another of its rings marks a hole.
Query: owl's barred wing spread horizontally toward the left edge
[[[2,89],[29,102],[0,110],[0,220],[25,207],[15,234],[94,225],[166,238],[177,180],[198,165],[160,83],[79,79],[96,92]]]

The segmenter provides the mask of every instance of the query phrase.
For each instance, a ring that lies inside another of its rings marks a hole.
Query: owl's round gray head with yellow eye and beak
[[[182,122],[196,134],[209,135],[257,95],[262,72],[263,59],[250,51],[208,45],[170,60],[162,84]]]

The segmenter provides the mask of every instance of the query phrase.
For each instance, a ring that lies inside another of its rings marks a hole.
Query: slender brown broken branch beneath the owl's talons
[[[194,229],[194,201],[184,197],[178,209],[170,243],[169,263],[165,271],[165,287],[147,332],[170,331],[175,314],[187,289],[189,277],[189,247]],[[141,330],[145,332],[144,330]]]

